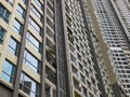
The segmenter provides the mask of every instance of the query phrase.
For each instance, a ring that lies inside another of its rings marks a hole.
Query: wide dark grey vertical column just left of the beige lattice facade
[[[67,59],[67,38],[64,0],[56,0],[55,3],[57,97],[72,97],[69,68]]]

